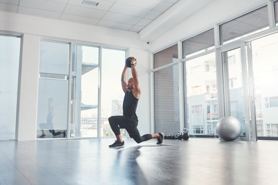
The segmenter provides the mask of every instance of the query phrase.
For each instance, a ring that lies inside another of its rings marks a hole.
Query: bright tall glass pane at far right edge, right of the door
[[[258,136],[278,137],[278,33],[251,41]]]

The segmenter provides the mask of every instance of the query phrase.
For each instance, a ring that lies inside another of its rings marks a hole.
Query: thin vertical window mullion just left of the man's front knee
[[[101,138],[101,54],[102,48],[99,46],[98,138]]]

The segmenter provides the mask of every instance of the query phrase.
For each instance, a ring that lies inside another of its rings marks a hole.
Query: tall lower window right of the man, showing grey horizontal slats
[[[179,131],[179,65],[154,73],[155,132],[176,135]]]

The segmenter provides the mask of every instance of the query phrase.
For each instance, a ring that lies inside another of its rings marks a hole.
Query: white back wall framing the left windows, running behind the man
[[[126,49],[138,59],[137,70],[142,89],[139,106],[139,130],[150,132],[149,48],[138,33],[46,19],[0,11],[0,33],[23,37],[20,75],[20,110],[18,140],[36,140],[40,39],[54,39],[80,44]]]

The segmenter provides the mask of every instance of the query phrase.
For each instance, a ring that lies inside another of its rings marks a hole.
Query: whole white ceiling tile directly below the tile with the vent
[[[68,4],[63,13],[100,19],[105,11]]]

